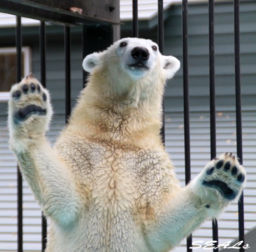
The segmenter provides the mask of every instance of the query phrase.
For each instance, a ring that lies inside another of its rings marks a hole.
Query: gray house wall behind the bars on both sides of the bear
[[[243,109],[244,166],[248,173],[245,189],[245,229],[256,225],[256,5],[241,1],[241,81]],[[234,44],[231,2],[216,3],[216,104],[217,153],[236,153],[236,123],[234,99]],[[189,93],[191,176],[195,177],[210,158],[209,136],[209,57],[207,4],[189,4]],[[172,54],[182,62],[181,6],[174,5],[165,11],[165,54]],[[143,21],[140,36],[157,41],[154,18]],[[80,28],[71,28],[71,79],[72,105],[82,88]],[[32,50],[32,72],[39,78],[40,58],[38,27],[24,28],[24,45]],[[48,137],[53,143],[65,124],[65,66],[63,27],[47,26],[47,87],[54,106],[54,117]],[[121,27],[122,37],[131,36],[131,22]],[[14,29],[0,30],[1,47],[15,44]],[[165,92],[166,150],[184,185],[183,139],[183,79],[182,69],[167,83]],[[0,251],[16,251],[16,162],[8,149],[6,124],[7,103],[0,103]],[[238,236],[237,205],[232,204],[220,217],[220,242]],[[40,210],[24,181],[24,251],[40,250]],[[211,221],[193,234],[193,240],[210,241]],[[184,242],[176,252],[185,251]],[[200,251],[200,249],[197,249]],[[203,251],[203,250],[201,250]]]

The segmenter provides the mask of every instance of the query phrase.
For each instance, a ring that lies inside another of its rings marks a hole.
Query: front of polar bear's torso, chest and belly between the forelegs
[[[159,169],[152,169],[158,168],[158,157],[147,151],[75,141],[79,148],[61,145],[72,151],[61,153],[66,153],[63,159],[73,166],[81,195],[87,195],[83,197],[87,199],[86,207],[74,230],[54,232],[54,240],[59,241],[60,247],[47,252],[150,252],[143,221],[154,219],[148,210],[151,206],[148,197],[150,201],[158,201],[162,188],[159,179],[155,181]]]

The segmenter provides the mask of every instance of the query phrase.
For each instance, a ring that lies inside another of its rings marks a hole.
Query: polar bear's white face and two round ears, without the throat
[[[177,58],[161,55],[158,45],[150,39],[123,38],[112,44],[106,51],[108,51],[108,58],[114,57],[115,62],[118,63],[117,66],[121,66],[122,71],[133,79],[141,78],[153,71],[159,61],[167,79],[172,78],[180,68]],[[83,69],[91,73],[104,61],[102,57],[105,57],[106,51],[93,53],[84,58]]]

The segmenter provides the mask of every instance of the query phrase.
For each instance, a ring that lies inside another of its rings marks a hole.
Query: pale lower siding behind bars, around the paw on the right
[[[243,111],[243,165],[247,172],[246,188],[244,190],[245,231],[256,226],[256,111]],[[222,111],[217,114],[217,155],[231,151],[236,153],[236,116],[234,111]],[[184,127],[181,112],[165,113],[165,146],[176,167],[177,177],[181,185],[185,185],[184,163]],[[205,111],[190,113],[190,151],[191,178],[195,178],[210,160],[210,117]],[[238,237],[238,206],[229,205],[220,216],[220,243],[231,241]],[[206,221],[193,233],[193,241],[212,240],[211,220]],[[185,240],[176,252],[185,251]],[[201,251],[198,249],[198,251]],[[202,250],[203,251],[203,250]]]

